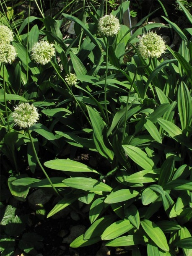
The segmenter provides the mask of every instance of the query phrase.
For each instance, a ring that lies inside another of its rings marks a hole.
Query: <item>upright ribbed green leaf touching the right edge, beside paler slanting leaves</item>
[[[181,121],[182,130],[184,130],[187,125],[191,125],[192,117],[192,99],[187,85],[184,82],[181,82],[178,88],[177,101],[179,119]]]

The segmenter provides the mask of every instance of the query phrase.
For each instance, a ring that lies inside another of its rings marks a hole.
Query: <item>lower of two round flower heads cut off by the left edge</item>
[[[0,43],[0,63],[12,63],[16,58],[16,48],[8,43]]]

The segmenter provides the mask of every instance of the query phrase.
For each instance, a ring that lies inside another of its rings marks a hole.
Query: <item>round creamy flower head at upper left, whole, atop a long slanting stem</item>
[[[52,57],[55,55],[55,49],[53,44],[49,44],[48,41],[40,41],[34,44],[31,49],[31,57],[37,64],[45,65],[49,63]]]

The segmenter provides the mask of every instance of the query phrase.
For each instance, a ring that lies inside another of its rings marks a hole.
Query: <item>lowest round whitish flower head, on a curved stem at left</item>
[[[29,128],[34,125],[39,119],[39,113],[34,105],[29,103],[21,103],[14,107],[15,111],[12,113],[15,125],[20,128]]]

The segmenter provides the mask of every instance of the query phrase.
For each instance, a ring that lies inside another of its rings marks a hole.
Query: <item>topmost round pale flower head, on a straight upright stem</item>
[[[118,18],[110,15],[105,15],[100,18],[98,23],[98,31],[101,36],[114,37],[120,30],[120,24]]]

